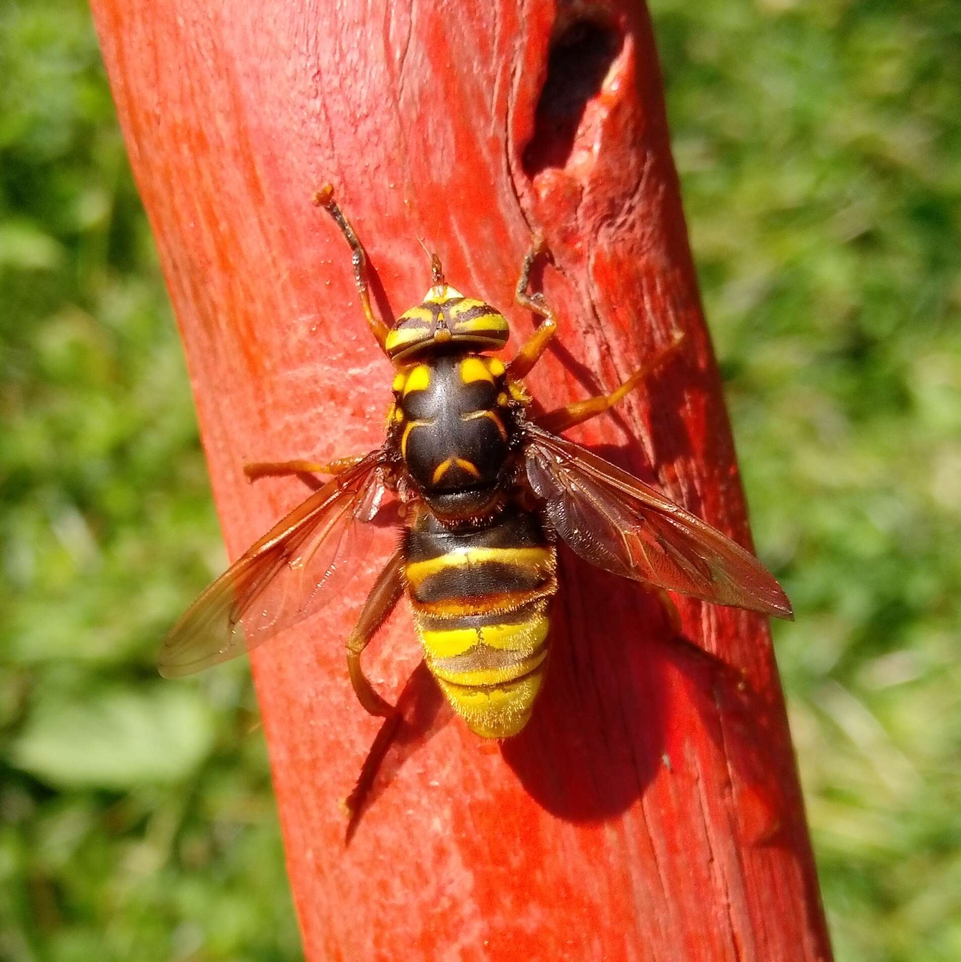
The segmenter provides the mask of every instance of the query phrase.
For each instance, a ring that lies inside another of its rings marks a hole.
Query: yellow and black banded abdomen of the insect
[[[554,546],[517,506],[489,527],[452,532],[425,512],[407,533],[405,576],[427,665],[470,729],[515,735],[547,658]]]

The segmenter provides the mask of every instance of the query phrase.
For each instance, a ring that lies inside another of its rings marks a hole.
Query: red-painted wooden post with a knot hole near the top
[[[748,539],[647,14],[558,7],[93,0],[232,555],[306,494],[247,484],[244,461],[382,437],[391,372],[310,203],[324,180],[394,314],[429,285],[419,236],[525,336],[513,285],[544,232],[538,283],[563,321],[529,379],[545,404],[615,385],[686,331],[683,357],[580,437]],[[569,552],[528,728],[496,747],[441,724],[418,675],[405,702],[426,733],[405,729],[345,848],[339,802],[378,722],[342,641],[377,561],[253,658],[308,958],[829,958],[767,624],[680,602],[687,638],[740,684],[671,643],[650,595]],[[395,694],[419,659],[405,611],[376,649]]]

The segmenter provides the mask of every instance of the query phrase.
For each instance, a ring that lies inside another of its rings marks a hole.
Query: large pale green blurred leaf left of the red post
[[[85,701],[39,702],[13,742],[11,760],[55,787],[124,791],[184,778],[213,740],[201,696],[158,683],[136,694],[99,691]]]

